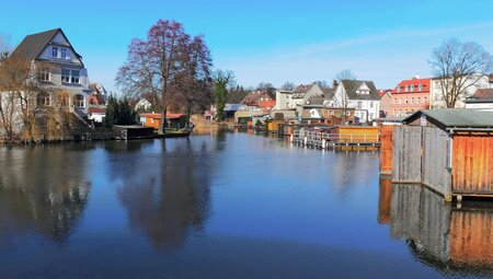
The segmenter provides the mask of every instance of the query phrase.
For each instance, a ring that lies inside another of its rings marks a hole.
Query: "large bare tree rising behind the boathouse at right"
[[[435,48],[428,62],[448,108],[456,107],[456,103],[466,97],[467,90],[477,85],[493,67],[492,55],[481,45],[456,38]]]

